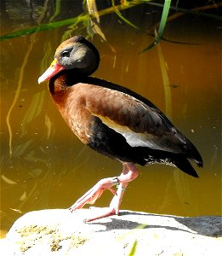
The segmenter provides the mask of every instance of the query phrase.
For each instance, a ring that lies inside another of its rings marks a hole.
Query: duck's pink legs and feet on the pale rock
[[[92,221],[94,219],[107,217],[113,214],[119,213],[119,207],[122,201],[122,196],[128,183],[134,180],[138,176],[139,172],[133,163],[122,163],[122,174],[119,177],[107,177],[101,179],[100,182],[96,183],[92,189],[89,189],[80,199],[78,199],[69,209],[71,212],[82,208],[85,204],[94,204],[94,202],[100,198],[105,189],[110,189],[114,195],[111,200],[110,207],[99,208],[94,216],[87,218],[85,221]],[[113,185],[118,185],[118,189],[111,188]]]

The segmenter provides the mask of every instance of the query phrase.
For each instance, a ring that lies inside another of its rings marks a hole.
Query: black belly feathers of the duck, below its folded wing
[[[91,123],[91,131],[93,136],[90,137],[88,146],[100,154],[140,166],[149,163],[174,164],[171,160],[172,153],[147,147],[131,147],[125,137],[104,125],[99,118]]]

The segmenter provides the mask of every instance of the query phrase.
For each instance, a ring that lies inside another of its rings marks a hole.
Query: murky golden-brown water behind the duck
[[[27,7],[8,8],[10,22],[2,23],[2,34],[31,26]],[[35,8],[37,15],[42,9]],[[25,18],[20,15],[23,9]],[[71,13],[64,10],[61,7],[58,20],[83,11],[81,5]],[[159,10],[144,5],[134,9],[137,15],[132,16],[133,9],[124,14],[148,29],[159,19]],[[168,22],[163,36],[187,44],[162,41],[158,47],[138,54],[153,37],[124,24],[117,15],[100,19],[106,41],[94,36],[101,55],[100,69],[94,76],[149,98],[191,139],[204,160],[202,169],[196,167],[199,178],[171,166],[139,167],[140,175],[129,184],[122,209],[182,216],[221,215],[219,24],[219,20],[202,16],[181,16]],[[85,27],[81,33],[87,35]],[[100,178],[122,171],[119,163],[77,140],[54,107],[47,84],[37,84],[61,38],[75,34],[77,31],[61,27],[1,42],[2,230],[9,230],[25,212],[69,207]],[[108,206],[110,199],[110,193],[105,192],[96,206]]]

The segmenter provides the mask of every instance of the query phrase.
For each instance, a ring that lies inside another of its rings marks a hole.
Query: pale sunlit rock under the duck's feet
[[[0,242],[3,255],[217,256],[222,252],[222,217],[184,218],[121,211],[85,224],[94,210],[28,212]]]

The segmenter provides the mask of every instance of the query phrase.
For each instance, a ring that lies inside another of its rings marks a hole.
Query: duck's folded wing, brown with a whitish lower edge
[[[190,148],[190,141],[158,108],[149,107],[121,91],[101,87],[94,87],[94,90],[97,91],[91,94],[86,108],[105,125],[122,134],[131,147],[148,147],[172,153],[185,153]],[[102,93],[103,97],[96,98],[97,93]]]

